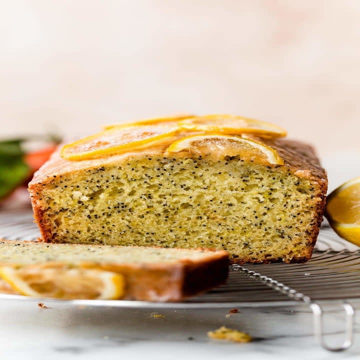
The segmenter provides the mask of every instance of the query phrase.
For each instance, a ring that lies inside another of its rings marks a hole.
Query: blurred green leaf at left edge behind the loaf
[[[21,139],[0,141],[0,198],[15,189],[29,174],[21,143]]]

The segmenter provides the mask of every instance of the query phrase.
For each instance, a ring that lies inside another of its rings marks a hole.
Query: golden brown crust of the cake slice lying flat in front
[[[2,243],[16,246],[18,242],[0,239]],[[25,241],[24,241],[25,242]],[[28,242],[28,241],[26,241]],[[34,245],[36,242],[30,241]],[[51,246],[51,245],[50,245]],[[89,245],[66,244],[79,248]],[[99,245],[97,245],[98,247]],[[141,248],[141,247],[140,247]],[[199,260],[179,260],[171,263],[81,263],[82,267],[96,267],[120,273],[125,279],[123,299],[143,301],[180,301],[194,296],[226,281],[228,274],[228,254],[226,251],[202,249],[211,253],[210,257]],[[11,263],[0,263],[9,265]],[[63,265],[62,262],[49,261],[37,264],[43,267]],[[29,268],[32,265],[29,265]],[[14,293],[0,279],[0,292]]]

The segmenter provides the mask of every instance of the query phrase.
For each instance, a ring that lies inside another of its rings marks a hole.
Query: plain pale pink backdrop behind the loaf
[[[238,113],[316,144],[345,179],[360,174],[359,23],[358,0],[0,1],[1,134]]]

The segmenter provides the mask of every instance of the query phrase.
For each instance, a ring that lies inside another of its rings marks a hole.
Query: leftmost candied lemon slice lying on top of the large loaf
[[[174,124],[114,127],[64,145],[61,156],[67,160],[83,160],[143,149],[173,141],[177,131]]]

